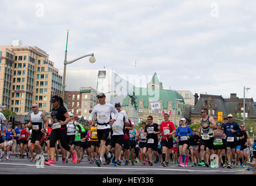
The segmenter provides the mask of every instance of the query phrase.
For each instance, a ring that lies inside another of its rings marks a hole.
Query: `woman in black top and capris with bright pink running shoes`
[[[51,98],[52,106],[54,108],[51,112],[51,124],[52,131],[50,135],[50,152],[51,159],[45,162],[47,165],[55,165],[54,154],[55,154],[55,143],[57,140],[61,142],[62,147],[72,154],[72,163],[76,163],[77,155],[76,151],[72,151],[70,146],[67,145],[67,127],[66,124],[70,121],[71,117],[63,105],[63,99],[57,95]]]

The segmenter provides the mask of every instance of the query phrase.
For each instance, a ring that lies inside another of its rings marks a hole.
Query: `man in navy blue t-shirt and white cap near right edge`
[[[241,133],[239,125],[233,121],[233,115],[227,116],[227,123],[223,126],[223,133],[226,135],[227,160],[229,161],[227,168],[232,169],[232,156],[230,149],[232,149],[232,155],[235,156],[238,137],[237,134]]]

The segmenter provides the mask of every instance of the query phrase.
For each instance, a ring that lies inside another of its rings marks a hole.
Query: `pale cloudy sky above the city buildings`
[[[1,1],[0,45],[37,46],[62,70],[112,68],[151,75],[163,88],[256,100],[256,1]],[[135,61],[137,67],[135,68]]]

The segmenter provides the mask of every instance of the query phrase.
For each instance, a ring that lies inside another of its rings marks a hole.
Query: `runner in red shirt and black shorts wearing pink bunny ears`
[[[159,130],[160,133],[162,133],[162,140],[161,140],[161,146],[163,148],[163,153],[162,153],[162,166],[166,167],[166,164],[168,164],[169,160],[169,155],[172,153],[172,148],[173,148],[173,139],[172,135],[176,133],[176,128],[172,121],[169,121],[169,115],[168,113],[164,113],[163,115],[163,121],[160,126]]]

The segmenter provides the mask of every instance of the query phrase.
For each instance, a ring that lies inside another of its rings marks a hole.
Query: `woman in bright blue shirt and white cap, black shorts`
[[[186,119],[180,119],[182,125],[177,128],[175,137],[179,137],[179,153],[180,153],[180,164],[179,167],[187,167],[187,163],[184,164],[186,158],[186,150],[189,145],[187,136],[194,135],[191,128],[186,126]]]

